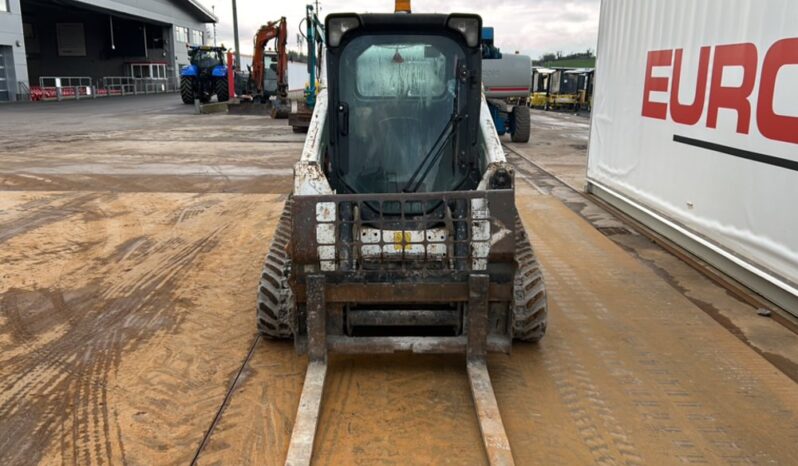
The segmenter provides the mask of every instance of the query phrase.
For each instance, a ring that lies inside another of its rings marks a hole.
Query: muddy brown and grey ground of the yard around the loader
[[[301,137],[177,100],[0,107],[0,464],[285,456],[306,360],[254,302]],[[533,134],[550,331],[489,359],[517,463],[798,463],[795,334],[540,168],[583,186],[586,119]],[[485,463],[463,359],[334,357],[315,462]]]

